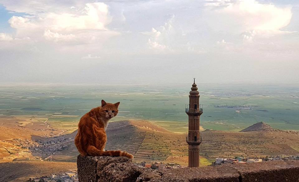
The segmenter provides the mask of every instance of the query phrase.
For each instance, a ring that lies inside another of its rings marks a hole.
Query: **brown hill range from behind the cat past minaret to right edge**
[[[299,155],[299,132],[275,130],[265,123],[248,127],[249,132],[205,130],[202,132],[202,165],[216,157],[260,157]],[[259,127],[260,126],[260,127]],[[245,129],[246,131],[246,129]],[[74,137],[76,132],[69,134]],[[170,132],[146,120],[111,122],[107,127],[106,150],[123,150],[134,155],[134,162],[161,160],[187,165],[188,146],[184,134]],[[73,144],[57,159],[76,158]]]

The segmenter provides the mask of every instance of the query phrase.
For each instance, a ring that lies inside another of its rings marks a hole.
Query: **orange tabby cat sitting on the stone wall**
[[[93,108],[83,117],[78,124],[78,133],[75,145],[82,156],[126,156],[133,158],[132,154],[124,151],[105,151],[107,136],[105,129],[108,121],[117,115],[118,103],[106,103]]]

